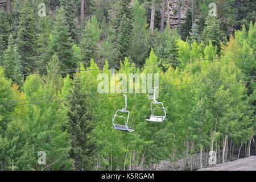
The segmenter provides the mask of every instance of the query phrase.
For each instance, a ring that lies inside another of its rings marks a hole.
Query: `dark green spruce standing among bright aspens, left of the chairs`
[[[73,80],[72,94],[82,94],[81,87],[80,74],[77,73]],[[75,160],[76,170],[92,169],[95,150],[94,143],[89,138],[94,127],[92,114],[85,100],[70,101],[68,105],[68,131],[72,135],[71,158]]]

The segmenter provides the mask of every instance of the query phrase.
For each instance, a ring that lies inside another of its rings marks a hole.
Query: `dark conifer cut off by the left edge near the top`
[[[7,14],[5,13],[5,9],[2,7],[0,8],[0,40],[2,40],[2,44],[0,45],[2,45],[4,49],[7,48],[9,35],[10,35],[10,25],[7,19]],[[1,47],[0,47],[0,55],[1,55]]]

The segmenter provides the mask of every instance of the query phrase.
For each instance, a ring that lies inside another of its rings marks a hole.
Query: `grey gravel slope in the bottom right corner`
[[[256,171],[256,156],[217,164],[214,167],[203,168],[198,171]]]

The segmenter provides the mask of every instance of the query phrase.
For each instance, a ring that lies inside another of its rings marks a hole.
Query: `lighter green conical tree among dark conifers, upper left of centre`
[[[89,20],[86,24],[86,28],[82,33],[82,40],[80,42],[80,48],[84,54],[86,66],[89,66],[91,59],[97,59],[97,43],[100,40],[102,30],[100,24],[95,16],[92,16],[92,20]]]

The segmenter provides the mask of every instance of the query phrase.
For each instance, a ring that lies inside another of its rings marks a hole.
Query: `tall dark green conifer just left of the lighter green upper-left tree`
[[[53,27],[53,40],[51,42],[51,55],[54,52],[61,61],[61,69],[74,69],[77,63],[73,60],[72,39],[65,18],[65,10],[61,7],[57,10],[56,22]]]

